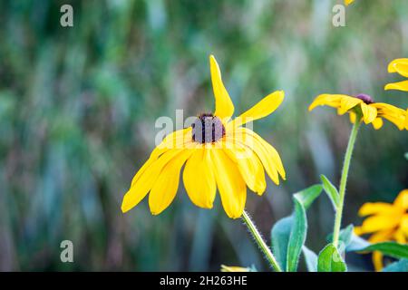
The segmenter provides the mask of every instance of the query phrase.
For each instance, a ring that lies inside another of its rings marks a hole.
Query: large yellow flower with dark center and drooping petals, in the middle
[[[247,199],[247,186],[258,195],[266,189],[265,170],[276,184],[285,169],[275,150],[257,133],[242,127],[266,117],[283,102],[284,92],[273,92],[230,121],[234,105],[221,80],[219,65],[209,57],[215,96],[214,114],[201,114],[191,127],[170,133],[152,152],[131,181],[121,210],[135,207],[149,194],[153,215],[168,208],[179,188],[180,171],[191,201],[212,208],[216,189],[229,218],[239,218]],[[264,170],[265,169],[265,170]]]

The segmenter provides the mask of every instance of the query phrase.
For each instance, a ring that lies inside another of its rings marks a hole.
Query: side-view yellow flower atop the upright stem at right
[[[383,119],[393,122],[399,130],[407,129],[407,112],[384,102],[374,102],[366,94],[355,97],[344,94],[321,94],[309,106],[312,111],[317,106],[329,106],[337,109],[339,115],[350,114],[350,121],[355,122],[357,113],[362,116],[365,124],[372,124],[375,130],[383,127]]]

